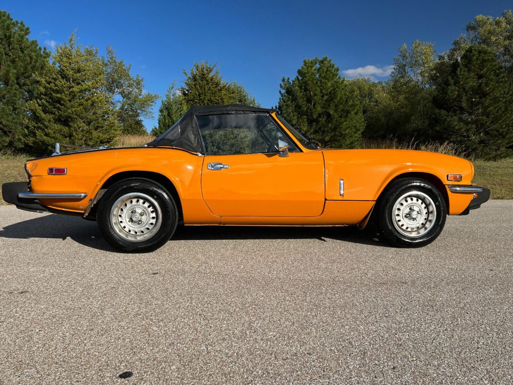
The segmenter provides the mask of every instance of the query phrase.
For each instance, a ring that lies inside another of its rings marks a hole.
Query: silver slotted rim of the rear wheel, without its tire
[[[130,242],[142,242],[155,235],[162,224],[159,204],[150,196],[135,192],[116,200],[110,210],[114,231]]]

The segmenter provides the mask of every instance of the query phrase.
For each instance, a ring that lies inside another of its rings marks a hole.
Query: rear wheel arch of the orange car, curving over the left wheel
[[[96,196],[91,201],[89,206],[87,207],[84,218],[86,219],[95,219],[96,218],[96,208],[97,203],[102,199],[103,194],[107,189],[113,186],[117,182],[121,182],[128,179],[146,179],[152,182],[159,183],[162,185],[169,194],[173,197],[176,207],[178,209],[179,220],[183,219],[183,209],[182,202],[180,199],[180,194],[178,194],[178,190],[176,189],[173,182],[163,174],[155,171],[143,171],[143,170],[130,170],[130,171],[120,171],[116,172],[116,174],[111,175],[107,178],[100,189],[96,192]]]

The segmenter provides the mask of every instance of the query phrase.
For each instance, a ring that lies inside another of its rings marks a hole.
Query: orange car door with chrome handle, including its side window
[[[266,113],[201,115],[203,199],[217,216],[317,217],[324,208],[321,151],[302,152]],[[274,143],[289,144],[280,156]]]

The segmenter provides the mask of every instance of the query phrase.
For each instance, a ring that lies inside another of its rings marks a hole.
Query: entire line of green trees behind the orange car
[[[121,133],[146,134],[160,95],[117,58],[77,44],[54,52],[0,11],[0,148],[46,154],[55,142],[96,146]],[[345,79],[328,57],[305,59],[283,78],[274,108],[325,146],[358,148],[362,139],[454,143],[472,157],[513,155],[513,13],[476,16],[451,48],[403,45],[387,81]],[[158,136],[191,105],[260,104],[208,61],[184,70],[162,98]]]

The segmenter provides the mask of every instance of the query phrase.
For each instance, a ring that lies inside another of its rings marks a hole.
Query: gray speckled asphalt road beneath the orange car
[[[449,217],[421,249],[195,226],[126,255],[94,222],[1,206],[0,383],[510,384],[512,213]]]

